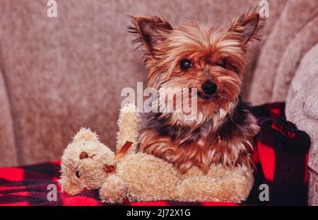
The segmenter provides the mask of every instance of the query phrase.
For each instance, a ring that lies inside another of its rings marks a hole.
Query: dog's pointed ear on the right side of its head
[[[252,40],[259,40],[259,32],[264,28],[259,13],[243,14],[230,23],[229,31],[239,34],[243,44]]]

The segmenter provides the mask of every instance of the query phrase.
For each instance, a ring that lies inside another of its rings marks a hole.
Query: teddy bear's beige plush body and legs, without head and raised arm
[[[100,197],[108,203],[121,203],[124,199],[241,202],[252,188],[253,177],[247,168],[212,166],[208,175],[199,174],[199,169],[192,171],[187,177],[163,159],[129,154],[117,163],[117,172],[106,178]]]

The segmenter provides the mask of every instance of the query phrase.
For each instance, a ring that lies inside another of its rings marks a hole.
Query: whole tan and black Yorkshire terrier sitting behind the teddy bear
[[[262,28],[258,13],[247,13],[225,27],[189,22],[172,27],[161,17],[133,17],[134,42],[143,47],[148,86],[196,88],[195,120],[175,112],[143,112],[139,151],[163,158],[181,173],[212,164],[253,170],[252,139],[259,127],[242,100],[242,74],[249,43]]]

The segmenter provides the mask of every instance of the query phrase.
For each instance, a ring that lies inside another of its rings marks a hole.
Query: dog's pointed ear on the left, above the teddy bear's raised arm
[[[165,35],[173,30],[172,25],[160,17],[131,17],[133,23],[129,26],[129,33],[136,33],[139,37],[134,43],[141,43],[149,52],[163,42]]]

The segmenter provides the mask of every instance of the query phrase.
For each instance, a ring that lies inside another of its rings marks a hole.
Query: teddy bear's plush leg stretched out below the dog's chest
[[[177,187],[177,199],[184,202],[242,202],[247,199],[254,178],[237,168],[223,178],[198,175],[184,178]]]

